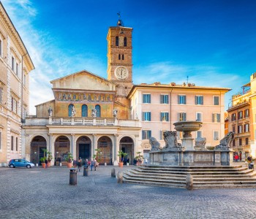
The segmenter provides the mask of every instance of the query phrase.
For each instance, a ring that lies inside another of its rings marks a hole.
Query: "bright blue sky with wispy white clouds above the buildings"
[[[1,0],[23,39],[30,114],[53,98],[50,80],[87,70],[107,78],[107,34],[118,12],[133,28],[133,83],[161,82],[241,92],[256,72],[255,0]]]

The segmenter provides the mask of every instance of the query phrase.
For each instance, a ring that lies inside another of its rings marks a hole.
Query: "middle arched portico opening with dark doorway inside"
[[[79,158],[83,160],[88,159],[90,161],[91,158],[91,139],[86,136],[81,136],[78,138],[76,142],[77,148],[77,156],[76,160],[78,161]]]

